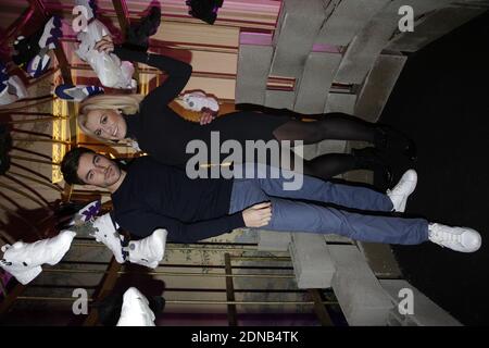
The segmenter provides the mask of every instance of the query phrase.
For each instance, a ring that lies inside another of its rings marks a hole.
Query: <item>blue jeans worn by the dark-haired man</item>
[[[262,164],[243,165],[253,165],[254,178],[234,179],[229,213],[271,201],[272,220],[268,225],[261,227],[263,229],[338,234],[362,241],[403,245],[421,244],[428,239],[426,220],[389,216],[392,202],[387,195],[364,187],[333,184],[306,175],[303,176],[301,189],[284,190],[284,182],[287,182],[285,177],[290,178],[291,172]],[[275,171],[279,177],[269,178],[268,172],[268,178],[260,178],[259,173],[265,176],[264,171]],[[284,175],[285,173],[288,174]],[[352,213],[299,200],[386,214]]]

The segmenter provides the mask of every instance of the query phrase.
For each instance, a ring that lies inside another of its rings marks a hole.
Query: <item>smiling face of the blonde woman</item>
[[[85,127],[97,137],[106,140],[122,140],[127,132],[126,121],[112,109],[90,110]]]

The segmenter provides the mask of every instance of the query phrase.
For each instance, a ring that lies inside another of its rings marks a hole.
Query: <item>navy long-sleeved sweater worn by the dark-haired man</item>
[[[228,214],[231,190],[233,179],[190,179],[183,170],[141,157],[112,194],[112,214],[135,236],[166,228],[168,241],[193,243],[244,226],[241,212]]]

